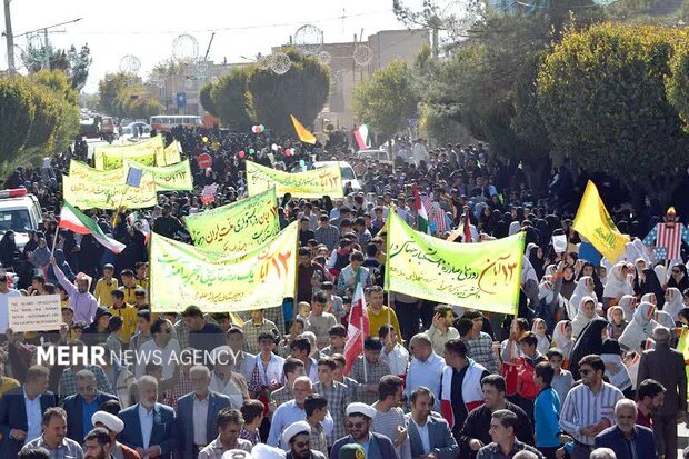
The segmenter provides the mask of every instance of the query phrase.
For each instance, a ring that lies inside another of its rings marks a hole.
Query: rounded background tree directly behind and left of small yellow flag
[[[280,133],[292,133],[290,113],[310,124],[328,100],[330,71],[314,56],[284,50],[292,63],[284,74],[252,69],[249,91],[256,120]]]

